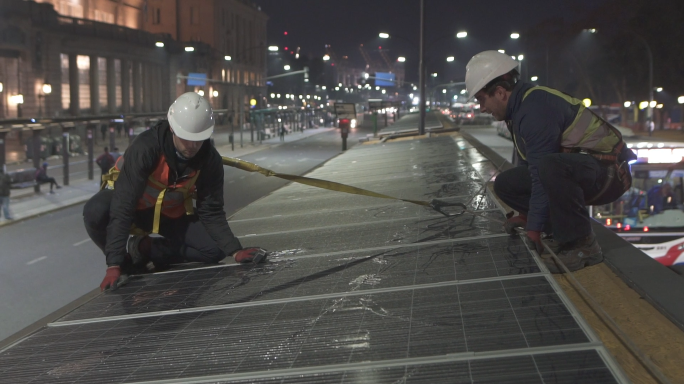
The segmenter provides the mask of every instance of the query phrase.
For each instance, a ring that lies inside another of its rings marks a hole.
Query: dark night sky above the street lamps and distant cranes
[[[391,56],[406,56],[407,77],[417,72],[418,49],[400,39],[383,40],[384,31],[414,40],[419,38],[419,0],[257,0],[269,16],[268,42],[300,46],[304,55],[322,56],[325,44],[331,44],[338,56],[348,55],[363,66],[358,46],[390,49]],[[586,7],[603,0],[522,0],[454,1],[426,0],[426,42],[456,31],[468,37],[445,38],[426,51],[428,70],[446,71],[445,77],[460,79],[466,62],[486,49],[505,49],[518,55],[521,49],[510,33],[531,27],[540,21],[562,16],[575,19]],[[284,32],[287,31],[287,36]],[[456,61],[447,64],[447,56]],[[441,76],[440,76],[441,77]]]

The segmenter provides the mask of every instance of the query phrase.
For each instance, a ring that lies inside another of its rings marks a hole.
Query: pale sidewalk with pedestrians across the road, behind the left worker
[[[289,133],[288,135],[285,135],[285,141],[280,141],[278,137],[273,137],[271,139],[263,140],[262,143],[259,143],[259,141],[254,141],[254,143],[249,142],[250,132],[246,131],[243,133],[244,143],[242,148],[240,148],[238,131],[235,135],[237,138],[235,150],[231,150],[231,144],[228,143],[228,133],[220,132],[217,134],[218,137],[215,137],[215,143],[216,149],[220,154],[224,156],[240,157],[260,150],[274,148],[282,143],[290,143],[292,141],[305,139],[306,137],[328,132],[332,129],[334,128],[311,128],[304,130],[304,132]],[[78,160],[79,159],[76,161]],[[61,159],[58,159],[53,161],[53,163],[57,165],[61,164],[61,161]],[[51,163],[51,165],[53,164]],[[63,186],[62,189],[55,189],[54,194],[48,192],[50,189],[49,184],[43,184],[40,187],[40,193],[34,193],[33,188],[13,189],[10,197],[10,213],[12,213],[13,220],[6,220],[3,217],[0,219],[0,227],[88,201],[88,199],[100,189],[100,183],[97,180],[97,175],[99,175],[100,172],[99,169],[95,169],[95,171],[96,180],[74,180],[70,185]]]

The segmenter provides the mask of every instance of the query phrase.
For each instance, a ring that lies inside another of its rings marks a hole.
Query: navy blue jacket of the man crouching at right
[[[532,194],[527,212],[527,230],[542,231],[549,220],[549,197],[539,180],[538,165],[547,154],[560,152],[565,128],[575,120],[579,105],[572,105],[560,96],[535,90],[534,85],[519,81],[510,95],[506,118],[511,129],[520,165],[527,165],[532,178]]]

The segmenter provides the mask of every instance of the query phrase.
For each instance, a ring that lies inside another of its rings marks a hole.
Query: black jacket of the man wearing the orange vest
[[[124,165],[118,180],[114,183],[114,198],[111,201],[107,245],[107,265],[120,265],[126,253],[133,215],[138,200],[142,197],[147,179],[154,171],[161,153],[166,156],[170,168],[169,181],[200,169],[195,185],[197,189],[197,215],[226,256],[241,249],[240,242],[228,227],[223,209],[223,163],[221,155],[205,141],[200,151],[189,160],[185,172],[179,175],[176,164],[176,148],[168,121],[161,120],[154,128],[141,133],[127,148]],[[150,208],[154,210],[154,208]]]

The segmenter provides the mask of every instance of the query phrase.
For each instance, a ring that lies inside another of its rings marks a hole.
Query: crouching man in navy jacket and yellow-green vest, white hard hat
[[[570,271],[603,261],[586,206],[614,202],[631,186],[635,154],[620,132],[581,100],[548,87],[518,81],[518,62],[497,51],[475,55],[466,66],[466,87],[481,111],[505,120],[518,166],[495,180],[497,196],[518,212],[504,223],[524,228],[543,252],[542,233]],[[552,273],[563,269],[544,259]]]

